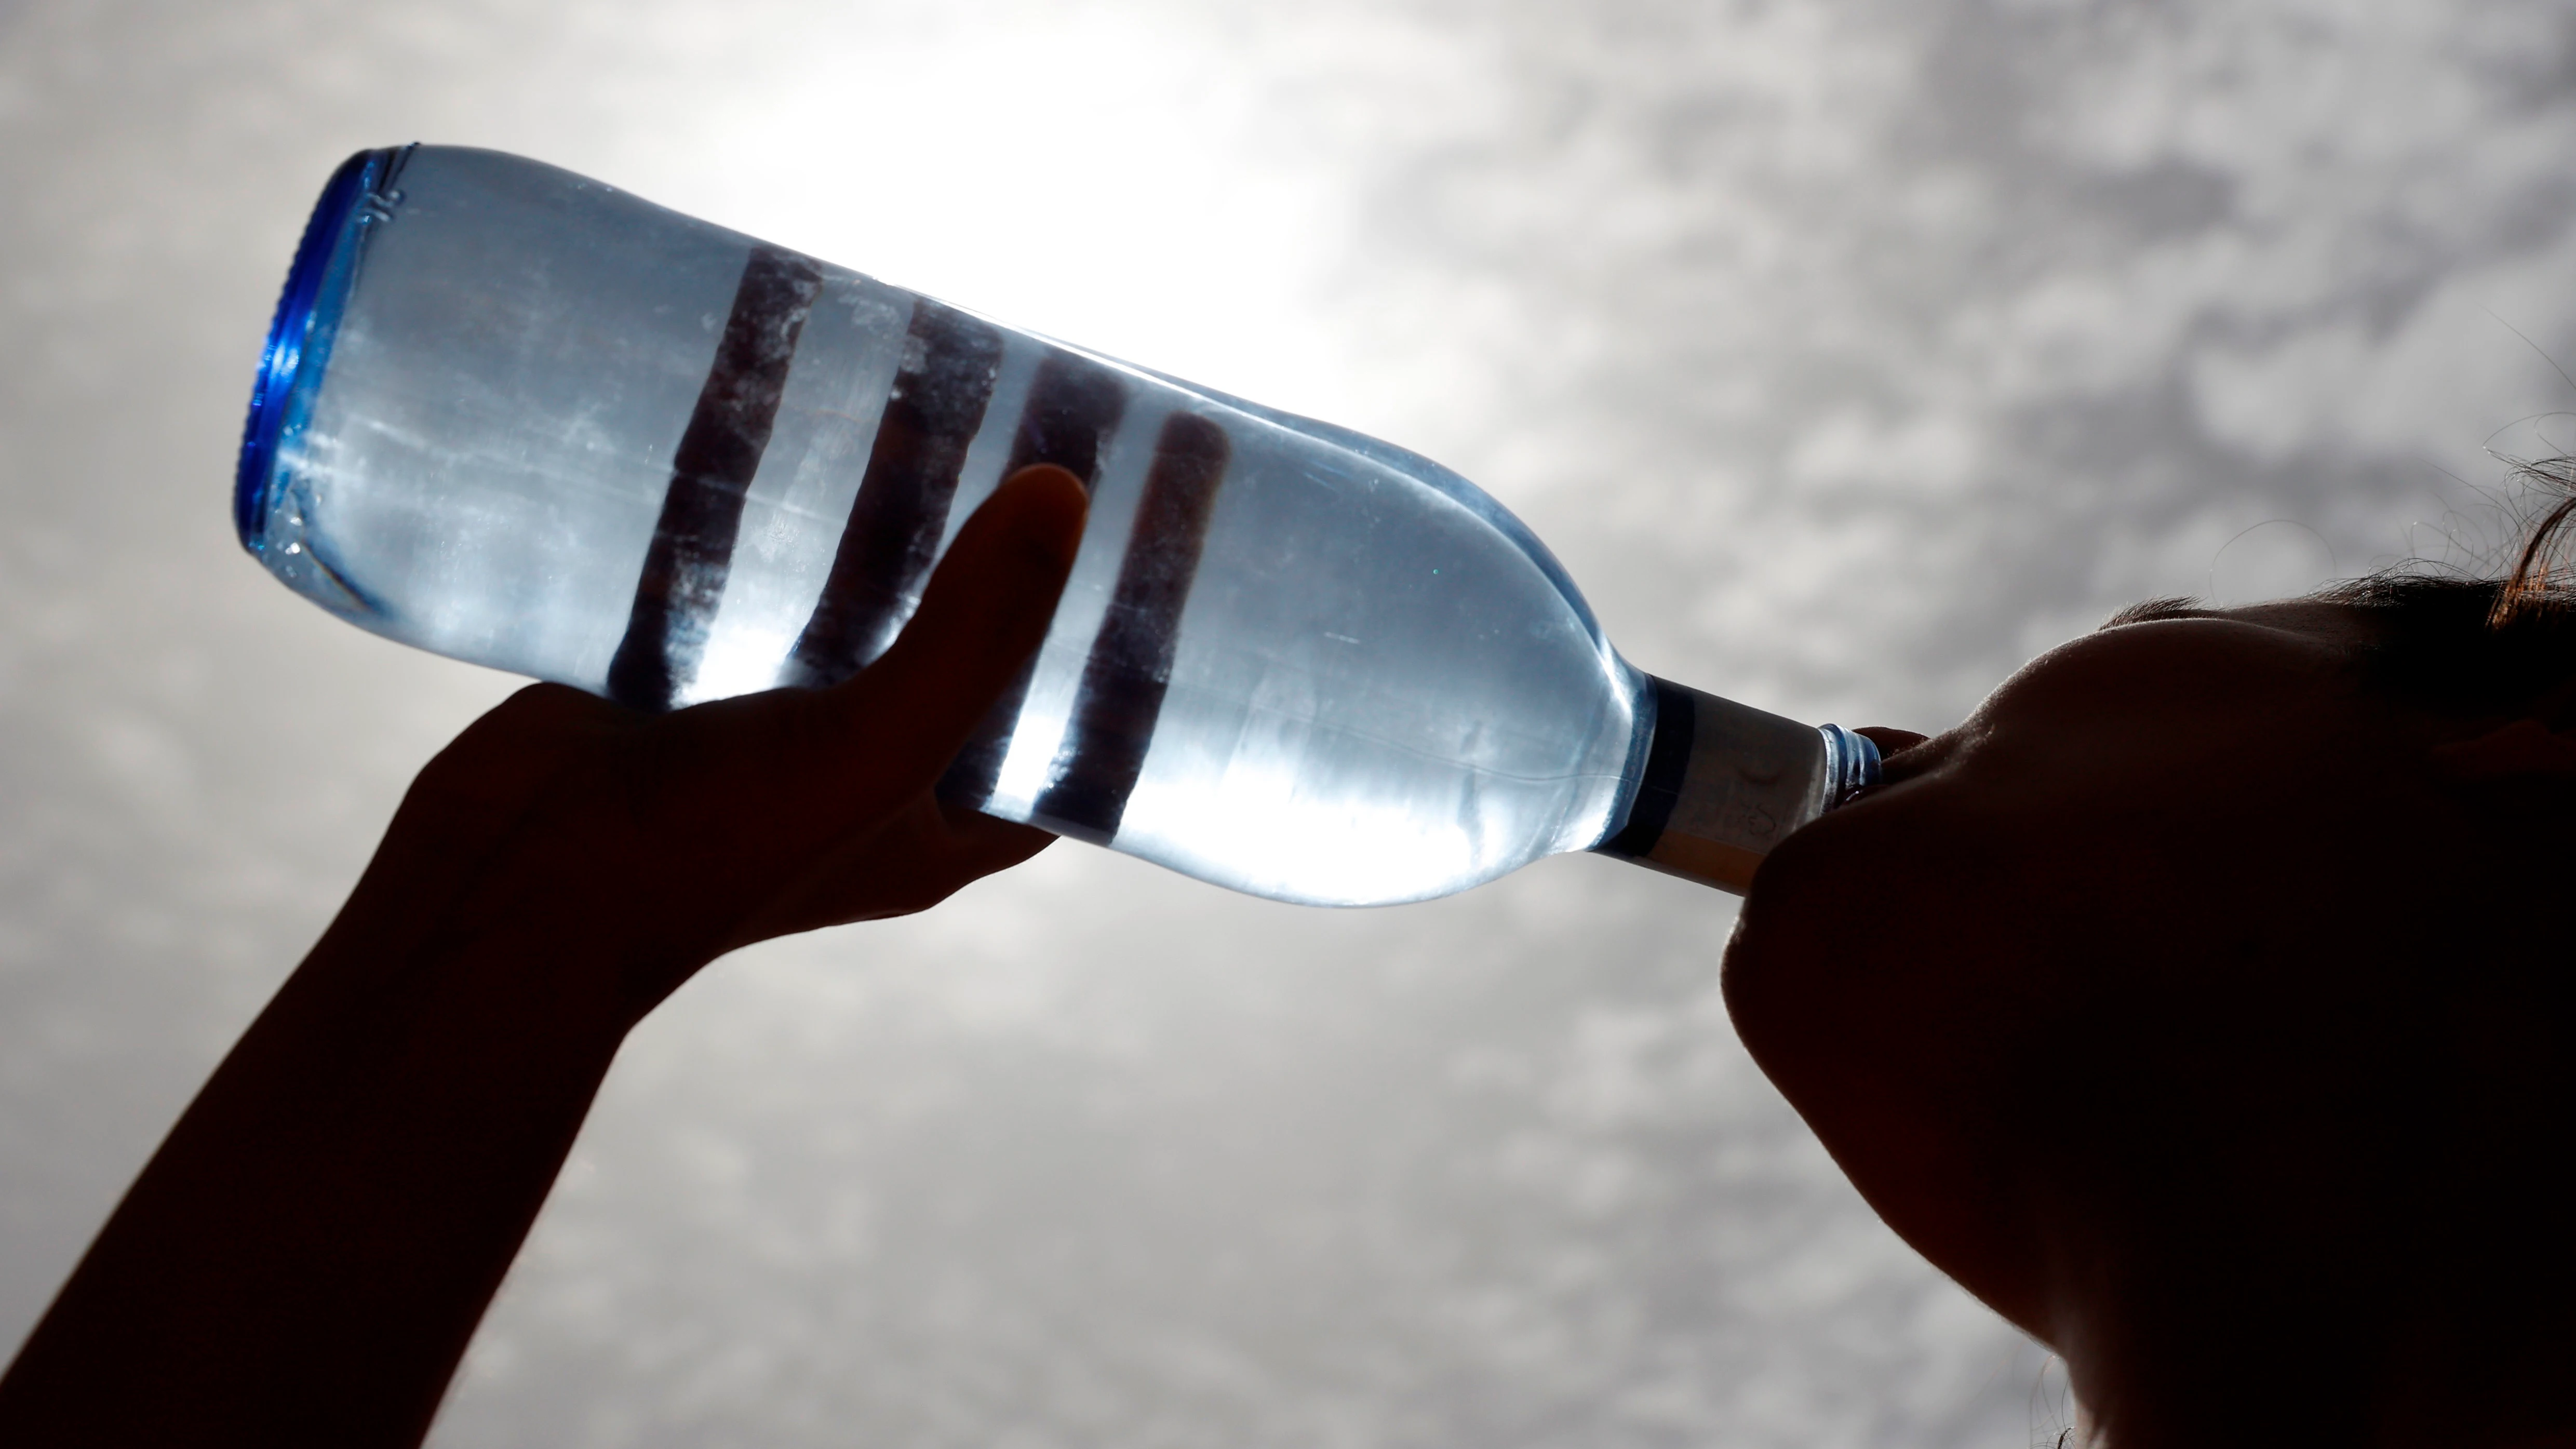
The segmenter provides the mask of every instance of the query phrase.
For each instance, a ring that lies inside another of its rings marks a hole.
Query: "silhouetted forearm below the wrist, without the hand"
[[[296,969],[0,1379],[0,1444],[415,1444],[629,1008],[544,923]],[[368,936],[379,936],[368,941]],[[595,949],[595,946],[592,946]]]

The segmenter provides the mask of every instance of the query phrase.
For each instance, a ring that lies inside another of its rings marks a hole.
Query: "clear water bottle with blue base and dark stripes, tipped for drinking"
[[[1002,477],[1092,490],[943,797],[1319,905],[1558,851],[1744,890],[1875,748],[1651,678],[1463,477],[531,160],[322,191],[242,544],[392,639],[639,709],[873,660]]]

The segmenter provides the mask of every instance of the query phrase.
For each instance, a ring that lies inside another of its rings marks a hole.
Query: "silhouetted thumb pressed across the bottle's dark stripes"
[[[824,691],[832,712],[878,732],[876,771],[927,781],[948,766],[1046,639],[1087,511],[1090,495],[1061,467],[1002,480],[958,529],[894,647]]]

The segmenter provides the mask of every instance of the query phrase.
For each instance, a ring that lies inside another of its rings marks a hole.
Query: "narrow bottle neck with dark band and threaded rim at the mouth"
[[[1651,678],[1651,676],[1649,676]],[[1878,745],[1654,678],[1654,737],[1628,822],[1595,846],[1734,895],[1790,830],[1878,781]]]

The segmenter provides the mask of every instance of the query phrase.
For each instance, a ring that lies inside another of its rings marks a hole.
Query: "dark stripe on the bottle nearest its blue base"
[[[822,266],[791,250],[757,245],[742,263],[716,366],[670,459],[670,490],[636,578],[626,637],[608,663],[608,696],[618,704],[670,709],[698,676],[706,629],[734,567],[742,498],[770,446],[796,335],[819,291]]]

